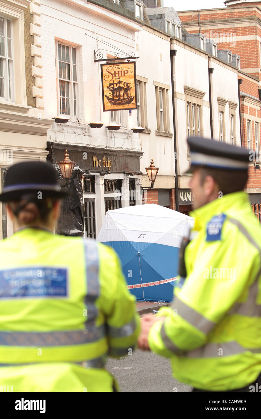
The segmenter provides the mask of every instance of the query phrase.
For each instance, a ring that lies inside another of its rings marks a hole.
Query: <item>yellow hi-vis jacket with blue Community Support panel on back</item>
[[[0,385],[113,391],[106,355],[131,354],[134,297],[113,249],[26,228],[0,243]],[[5,388],[5,387],[3,387]]]

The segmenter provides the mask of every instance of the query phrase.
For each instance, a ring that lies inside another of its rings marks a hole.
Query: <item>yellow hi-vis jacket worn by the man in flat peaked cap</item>
[[[191,213],[198,235],[185,250],[187,276],[161,308],[150,349],[173,375],[209,391],[242,388],[261,372],[261,228],[247,194],[235,192]]]

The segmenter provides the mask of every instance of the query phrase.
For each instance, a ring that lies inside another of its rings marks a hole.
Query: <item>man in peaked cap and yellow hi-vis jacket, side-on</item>
[[[188,138],[194,231],[171,308],[146,316],[141,349],[169,358],[193,391],[261,384],[261,227],[243,191],[249,150]]]

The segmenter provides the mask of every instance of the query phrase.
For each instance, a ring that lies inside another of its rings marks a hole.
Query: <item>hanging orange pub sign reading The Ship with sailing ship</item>
[[[103,111],[137,109],[136,63],[101,64]]]

